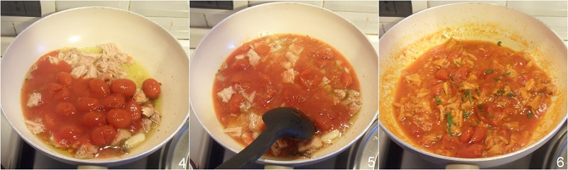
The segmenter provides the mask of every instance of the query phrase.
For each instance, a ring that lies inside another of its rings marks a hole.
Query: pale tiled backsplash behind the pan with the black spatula
[[[249,6],[273,1],[234,1],[234,10],[190,9],[190,27],[212,28],[224,18]],[[295,1],[327,8],[354,23],[365,34],[378,34],[378,1]]]

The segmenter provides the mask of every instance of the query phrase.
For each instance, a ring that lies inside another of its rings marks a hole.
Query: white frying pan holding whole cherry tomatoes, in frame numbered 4
[[[56,152],[23,123],[20,103],[24,76],[39,57],[61,47],[92,47],[114,42],[162,82],[162,123],[129,154],[106,159],[75,159]],[[179,42],[157,23],[115,8],[86,7],[54,13],[20,33],[1,60],[1,107],[18,135],[35,149],[67,164],[116,166],[136,161],[168,142],[189,115],[188,58]],[[4,148],[2,148],[4,149]]]

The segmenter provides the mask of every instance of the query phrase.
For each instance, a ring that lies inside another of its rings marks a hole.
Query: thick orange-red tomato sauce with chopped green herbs
[[[555,93],[527,53],[501,42],[450,39],[403,70],[393,107],[400,128],[422,149],[493,157],[528,145]]]

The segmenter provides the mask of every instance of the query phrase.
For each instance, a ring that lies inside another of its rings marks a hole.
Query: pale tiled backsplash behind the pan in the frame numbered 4
[[[69,8],[106,6],[146,16],[175,38],[189,39],[189,1],[40,1],[42,17]],[[1,35],[16,36],[40,17],[1,16]]]

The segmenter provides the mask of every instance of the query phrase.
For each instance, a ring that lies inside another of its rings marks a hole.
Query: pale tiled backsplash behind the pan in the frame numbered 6
[[[413,13],[434,6],[445,4],[454,4],[466,1],[412,1]],[[488,4],[496,4],[507,6],[515,10],[534,16],[538,20],[545,23],[563,40],[568,40],[568,18],[567,5],[568,1],[469,1],[481,2]],[[400,17],[379,17],[379,37],[383,36],[387,30],[391,29],[396,23],[402,21]]]

